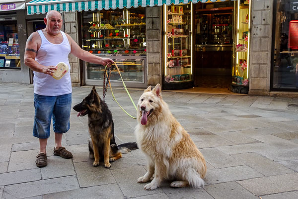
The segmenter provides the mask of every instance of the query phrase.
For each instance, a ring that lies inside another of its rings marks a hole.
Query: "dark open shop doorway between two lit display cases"
[[[234,2],[198,2],[195,20],[195,87],[229,91],[233,65]]]

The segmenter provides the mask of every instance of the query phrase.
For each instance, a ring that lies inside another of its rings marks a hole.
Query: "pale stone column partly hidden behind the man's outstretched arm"
[[[78,22],[76,12],[65,12],[64,13],[64,24],[65,24],[65,32],[69,34],[76,43],[78,43]],[[69,61],[71,65],[71,78],[72,78],[72,86],[79,87],[80,86],[80,73],[79,73],[79,59],[74,55],[69,55]]]

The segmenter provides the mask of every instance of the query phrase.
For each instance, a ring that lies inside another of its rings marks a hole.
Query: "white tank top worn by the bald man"
[[[69,66],[69,71],[60,80],[34,71],[34,93],[42,96],[61,96],[72,93],[71,66],[68,59],[71,46],[66,34],[60,31],[63,41],[60,44],[53,44],[48,41],[42,30],[37,32],[41,37],[41,45],[37,51],[35,61],[44,66],[56,66],[59,62],[64,62]]]

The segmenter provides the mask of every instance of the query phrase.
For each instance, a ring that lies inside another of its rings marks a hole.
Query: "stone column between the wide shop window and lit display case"
[[[148,86],[162,82],[161,9],[162,6],[146,7]]]

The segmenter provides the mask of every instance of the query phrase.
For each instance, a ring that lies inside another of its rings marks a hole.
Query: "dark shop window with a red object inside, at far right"
[[[298,89],[298,10],[297,3],[275,1],[273,30],[272,90]]]

